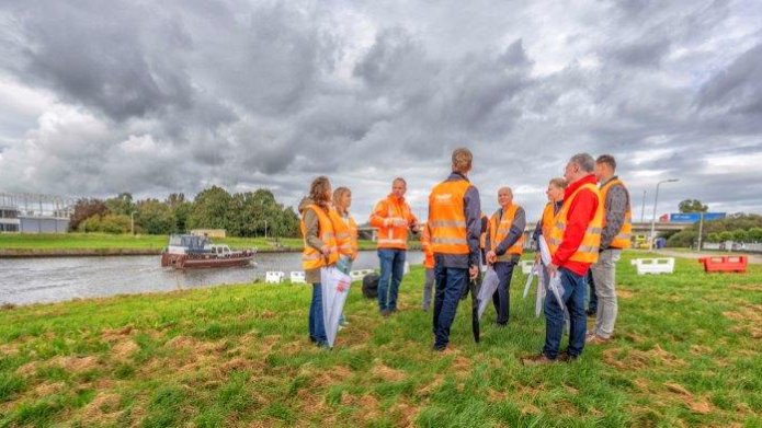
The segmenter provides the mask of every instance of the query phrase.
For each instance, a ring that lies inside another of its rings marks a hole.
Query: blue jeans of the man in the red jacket
[[[585,275],[577,275],[573,271],[560,268],[558,274],[561,276],[564,287],[564,301],[569,311],[569,347],[567,352],[570,357],[579,357],[584,348],[584,334],[588,329],[588,319],[584,313],[584,299],[588,293],[588,281]],[[545,297],[545,347],[543,354],[551,360],[558,357],[558,348],[561,345],[564,334],[564,308],[548,292]]]

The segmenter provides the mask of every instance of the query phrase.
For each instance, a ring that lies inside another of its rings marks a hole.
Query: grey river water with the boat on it
[[[423,261],[409,252],[410,264]],[[246,267],[174,270],[161,256],[1,258],[0,304],[48,303],[71,299],[171,291],[264,279],[268,270],[302,270],[300,253],[262,253]],[[378,268],[376,252],[361,252],[353,269]]]

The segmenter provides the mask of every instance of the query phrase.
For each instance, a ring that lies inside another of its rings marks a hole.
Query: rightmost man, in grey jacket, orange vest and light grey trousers
[[[585,342],[603,344],[614,334],[614,324],[618,311],[616,301],[616,262],[622,250],[630,245],[629,193],[624,183],[615,175],[616,161],[610,154],[603,154],[595,161],[595,178],[601,186],[601,199],[604,204],[603,231],[601,233],[600,256],[591,266],[598,311],[595,326]]]

